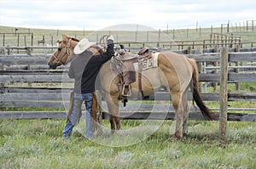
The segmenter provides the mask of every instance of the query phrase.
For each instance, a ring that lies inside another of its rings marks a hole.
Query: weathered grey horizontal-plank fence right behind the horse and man
[[[204,62],[220,62],[219,53],[187,54],[199,65]],[[230,53],[229,63],[255,62],[256,53]],[[69,105],[69,94],[73,80],[66,78],[67,69],[49,70],[49,56],[45,55],[0,55],[0,119],[65,119]],[[215,69],[215,68],[214,68]],[[217,68],[216,68],[217,69]],[[237,68],[236,68],[237,69]],[[220,82],[219,73],[199,75],[200,82]],[[253,72],[229,72],[228,82],[256,82]],[[64,86],[61,86],[61,84]],[[202,93],[205,101],[219,101],[220,93]],[[149,100],[169,100],[165,90],[154,93]],[[191,93],[189,93],[191,100]],[[256,93],[228,93],[228,101],[255,102]],[[172,106],[169,104],[142,104],[140,101],[128,102],[123,108],[120,103],[122,119],[174,119]],[[106,103],[102,101],[104,111]],[[20,108],[13,110],[13,108]],[[29,109],[27,109],[29,108]],[[40,110],[42,108],[42,110]],[[166,112],[161,112],[166,110]],[[219,108],[212,109],[218,114]],[[152,111],[156,111],[153,112]],[[230,121],[256,121],[255,109],[240,108],[228,110]],[[108,118],[108,113],[103,113]],[[194,106],[190,107],[191,120],[203,120],[201,113]]]

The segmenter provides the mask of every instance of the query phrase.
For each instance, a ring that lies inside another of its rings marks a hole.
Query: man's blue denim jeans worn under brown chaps
[[[85,137],[91,139],[93,136],[93,127],[92,127],[92,118],[91,118],[91,110],[92,110],[92,93],[74,93],[73,99],[73,108],[69,117],[69,121],[67,121],[66,126],[64,128],[63,137],[67,138],[71,135],[73,131],[73,127],[79,121],[81,105],[83,101],[86,104],[86,115],[85,115]]]

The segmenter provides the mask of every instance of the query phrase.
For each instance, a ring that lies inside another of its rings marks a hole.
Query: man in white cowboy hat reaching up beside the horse
[[[85,137],[91,139],[93,136],[91,113],[93,93],[96,90],[96,76],[101,66],[111,59],[114,54],[113,36],[108,37],[108,48],[103,54],[93,54],[93,50],[90,47],[95,44],[95,42],[89,42],[87,38],[84,38],[73,49],[73,53],[79,54],[79,56],[73,59],[68,71],[68,76],[75,79],[75,83],[73,108],[67,117],[68,119],[63,132],[64,138],[68,138],[71,135],[73,127],[79,121],[83,101],[86,107]]]

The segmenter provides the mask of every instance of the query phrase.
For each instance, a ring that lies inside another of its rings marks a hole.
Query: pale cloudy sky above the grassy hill
[[[154,29],[256,20],[255,0],[0,0],[0,25],[98,31],[113,25]]]

